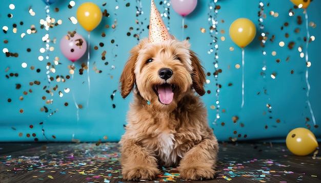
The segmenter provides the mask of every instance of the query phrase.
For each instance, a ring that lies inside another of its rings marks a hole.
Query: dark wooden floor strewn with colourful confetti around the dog
[[[321,157],[284,143],[220,143],[215,179],[202,182],[321,182]],[[0,182],[133,182],[122,178],[117,143],[0,143]],[[181,180],[164,168],[153,181]],[[199,182],[199,181],[192,181]]]

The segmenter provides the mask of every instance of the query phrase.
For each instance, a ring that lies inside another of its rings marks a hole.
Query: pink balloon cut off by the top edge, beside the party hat
[[[173,9],[180,16],[190,14],[197,5],[197,0],[171,0]]]

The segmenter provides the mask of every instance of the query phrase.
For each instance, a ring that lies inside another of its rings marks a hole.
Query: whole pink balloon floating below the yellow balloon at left
[[[74,62],[85,54],[87,43],[80,34],[67,34],[60,41],[60,50],[66,58]]]

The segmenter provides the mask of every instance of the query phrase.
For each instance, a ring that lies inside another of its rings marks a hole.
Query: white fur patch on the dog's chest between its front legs
[[[159,156],[165,163],[164,166],[176,163],[177,154],[173,152],[174,141],[174,135],[171,133],[163,132],[158,135]]]

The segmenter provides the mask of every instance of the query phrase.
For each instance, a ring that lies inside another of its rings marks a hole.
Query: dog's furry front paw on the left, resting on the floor
[[[159,174],[157,168],[137,167],[132,169],[123,169],[123,178],[125,180],[152,180]]]

